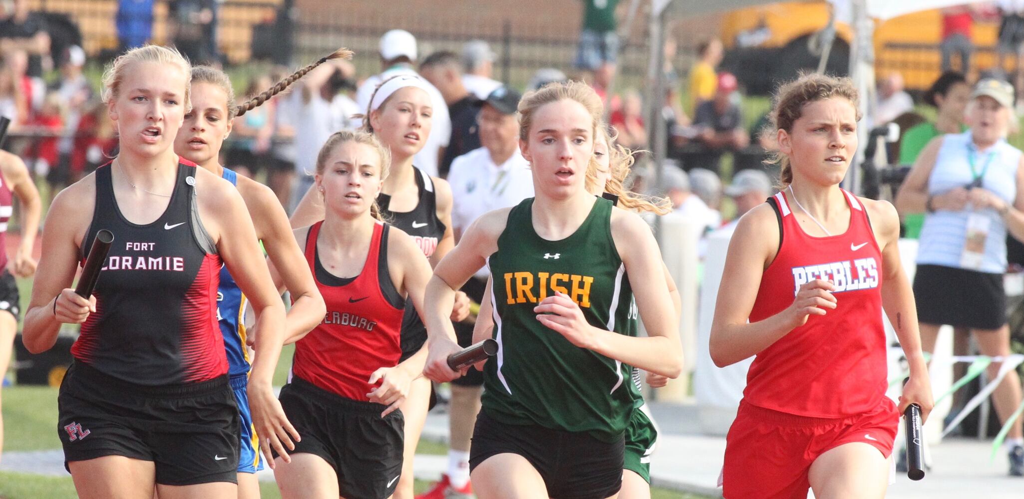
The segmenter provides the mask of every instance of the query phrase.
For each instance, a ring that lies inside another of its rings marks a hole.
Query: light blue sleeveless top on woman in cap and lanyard
[[[928,193],[938,195],[954,187],[966,187],[975,181],[994,192],[1010,205],[1017,198],[1017,169],[1020,149],[999,140],[987,150],[979,151],[971,139],[971,131],[948,134],[935,160],[928,178]],[[959,212],[938,210],[925,216],[918,250],[919,265],[941,265],[961,268],[961,255],[967,243],[970,209]],[[980,272],[1001,274],[1007,270],[1007,224],[994,210],[979,214],[991,219]]]

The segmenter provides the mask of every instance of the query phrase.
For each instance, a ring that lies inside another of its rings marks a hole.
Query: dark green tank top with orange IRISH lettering
[[[557,241],[537,235],[532,205],[530,197],[509,212],[498,251],[487,259],[493,334],[501,348],[484,368],[483,410],[506,424],[587,432],[613,442],[636,403],[630,366],[573,346],[534,312],[560,291],[580,305],[591,325],[633,332],[637,312],[611,238],[612,203],[597,198],[583,225]]]

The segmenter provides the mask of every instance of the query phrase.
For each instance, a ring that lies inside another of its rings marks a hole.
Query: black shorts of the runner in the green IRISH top
[[[586,433],[505,424],[480,411],[469,449],[470,470],[498,454],[526,458],[552,499],[611,497],[623,486],[624,437],[609,444]]]

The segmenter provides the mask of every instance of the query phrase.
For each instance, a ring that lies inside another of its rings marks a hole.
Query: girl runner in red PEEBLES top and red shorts
[[[899,220],[839,188],[857,149],[857,92],[802,77],[772,111],[786,188],[740,219],[711,355],[756,355],[726,438],[726,498],[883,497],[899,414],[933,402]],[[899,408],[885,396],[885,310],[910,363]]]

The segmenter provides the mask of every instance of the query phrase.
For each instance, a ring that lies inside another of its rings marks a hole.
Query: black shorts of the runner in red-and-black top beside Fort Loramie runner
[[[290,454],[324,458],[338,474],[341,497],[385,499],[394,493],[404,450],[401,410],[381,418],[384,405],[347,399],[294,376],[279,399],[302,438]]]

